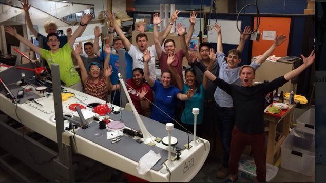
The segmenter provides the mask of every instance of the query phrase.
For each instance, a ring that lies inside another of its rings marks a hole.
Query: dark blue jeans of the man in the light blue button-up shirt
[[[222,165],[223,167],[228,168],[228,159],[230,157],[231,146],[231,134],[232,129],[234,127],[236,115],[233,107],[220,107],[217,103],[215,104],[215,114],[217,115],[216,127],[224,151]]]

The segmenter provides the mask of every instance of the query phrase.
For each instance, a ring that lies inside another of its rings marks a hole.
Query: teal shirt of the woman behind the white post
[[[183,84],[182,93],[186,94],[188,90],[189,90],[189,86]],[[202,124],[203,123],[204,97],[205,97],[205,89],[203,87],[203,84],[201,84],[200,87],[197,88],[193,98],[189,98],[189,100],[185,101],[186,105],[185,105],[185,108],[184,108],[184,110],[183,110],[183,112],[181,114],[182,123],[194,125],[193,108],[198,108],[199,109],[199,114],[197,115],[197,124]]]

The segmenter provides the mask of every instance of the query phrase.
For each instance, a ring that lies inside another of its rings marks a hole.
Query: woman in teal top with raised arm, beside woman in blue
[[[169,70],[172,72],[172,77],[176,77],[175,80],[178,88],[182,91],[183,94],[186,94],[189,89],[195,90],[194,96],[185,101],[185,108],[181,113],[181,122],[186,125],[188,131],[194,133],[193,108],[198,108],[199,114],[197,115],[197,135],[202,136],[202,133],[205,130],[202,126],[202,123],[204,116],[204,96],[207,87],[207,78],[204,76],[203,83],[199,84],[197,82],[196,72],[194,69],[188,68],[184,72],[184,77],[186,80],[186,84],[184,84],[183,79],[181,79],[177,70],[172,66],[173,62],[176,62],[175,54],[169,53],[167,57],[167,64],[169,66]]]

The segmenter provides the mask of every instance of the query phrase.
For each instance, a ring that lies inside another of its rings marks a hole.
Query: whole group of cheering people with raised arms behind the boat
[[[40,35],[30,26],[32,23],[29,18],[28,1],[24,0],[22,5],[28,27],[34,35]],[[88,42],[84,44],[84,50],[88,57],[80,55],[81,44],[76,46],[75,50],[73,50],[73,44],[91,21],[91,14],[82,16],[78,28],[72,35],[71,29],[67,29],[67,33],[69,32],[67,43],[62,47],[60,45],[65,40],[63,36],[58,36],[55,33],[56,25],[47,24],[45,30],[48,35],[44,39],[44,45],[49,47],[48,50],[33,45],[29,40],[17,34],[16,30],[10,26],[6,26],[5,31],[40,54],[49,66],[51,63],[59,64],[60,79],[67,87],[82,91],[83,83],[85,93],[103,100],[107,100],[108,91],[119,92],[120,90],[118,83],[118,52],[119,49],[125,48],[128,51],[125,54],[127,90],[139,114],[145,115],[146,112],[151,111],[151,119],[164,124],[172,122],[181,130],[185,129],[193,132],[194,116],[191,111],[194,107],[199,108],[197,134],[201,136],[207,130],[203,126],[204,123],[215,123],[216,131],[222,143],[224,154],[222,167],[218,170],[217,176],[223,179],[231,174],[226,181],[235,182],[238,179],[238,162],[242,151],[245,145],[251,145],[257,166],[257,180],[264,182],[266,180],[263,127],[264,98],[267,93],[282,86],[313,64],[315,53],[312,51],[307,58],[301,55],[303,64],[284,76],[269,83],[254,86],[255,70],[261,66],[277,46],[286,40],[286,36],[277,36],[272,46],[259,59],[250,65],[239,67],[241,52],[248,35],[251,33],[250,27],[246,26],[244,31],[241,32],[237,49],[229,50],[226,56],[223,53],[220,26],[215,25],[214,28],[218,38],[217,52],[215,53],[210,43],[203,42],[199,46],[201,58],[199,59],[187,47],[194,31],[196,12],[190,13],[190,27],[186,36],[185,27],[182,27],[180,23],[176,24],[176,31],[180,36],[180,50],[176,51],[174,40],[165,40],[175,24],[179,12],[176,10],[172,14],[169,24],[161,34],[158,32],[158,24],[162,22],[162,19],[158,13],[154,14],[152,22],[154,25],[154,45],[151,46],[148,46],[148,38],[143,33],[144,25],[142,23],[138,28],[141,33],[136,36],[137,46],[135,46],[123,34],[114,14],[107,12],[107,18],[111,24],[109,25],[110,35],[106,39],[107,44],[104,52],[99,51],[101,33],[99,27],[95,27],[94,43]],[[119,39],[113,40],[114,30],[120,36]],[[162,46],[163,42],[164,45]],[[111,44],[113,44],[112,49],[114,49],[115,53],[111,51]],[[74,68],[71,53],[73,53],[80,66],[81,78]],[[156,56],[159,58],[162,71],[160,82],[156,80],[155,74]],[[187,58],[191,66],[185,70],[184,76],[182,74],[183,57]],[[183,78],[185,78],[185,83]],[[182,124],[175,120],[176,111],[178,111],[175,108],[179,100],[185,101],[184,109],[181,112]],[[113,104],[120,105],[119,94],[111,93],[111,101]],[[184,125],[188,128],[184,128]]]

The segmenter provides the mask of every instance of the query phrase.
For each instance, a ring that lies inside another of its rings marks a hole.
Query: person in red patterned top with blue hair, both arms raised
[[[105,58],[103,69],[102,69],[102,65],[99,64],[98,62],[91,62],[88,65],[88,73],[89,73],[88,75],[83,60],[79,55],[79,51],[81,48],[82,48],[82,44],[76,45],[76,48],[73,51],[73,55],[77,59],[78,65],[80,66],[82,82],[84,84],[84,92],[86,94],[107,101],[107,92],[108,92],[108,86],[110,82],[109,81],[110,73],[107,65],[109,63],[110,57],[107,56]],[[108,45],[105,45],[104,51],[107,55],[109,55],[110,47]],[[103,70],[103,75],[101,75],[102,70]]]

